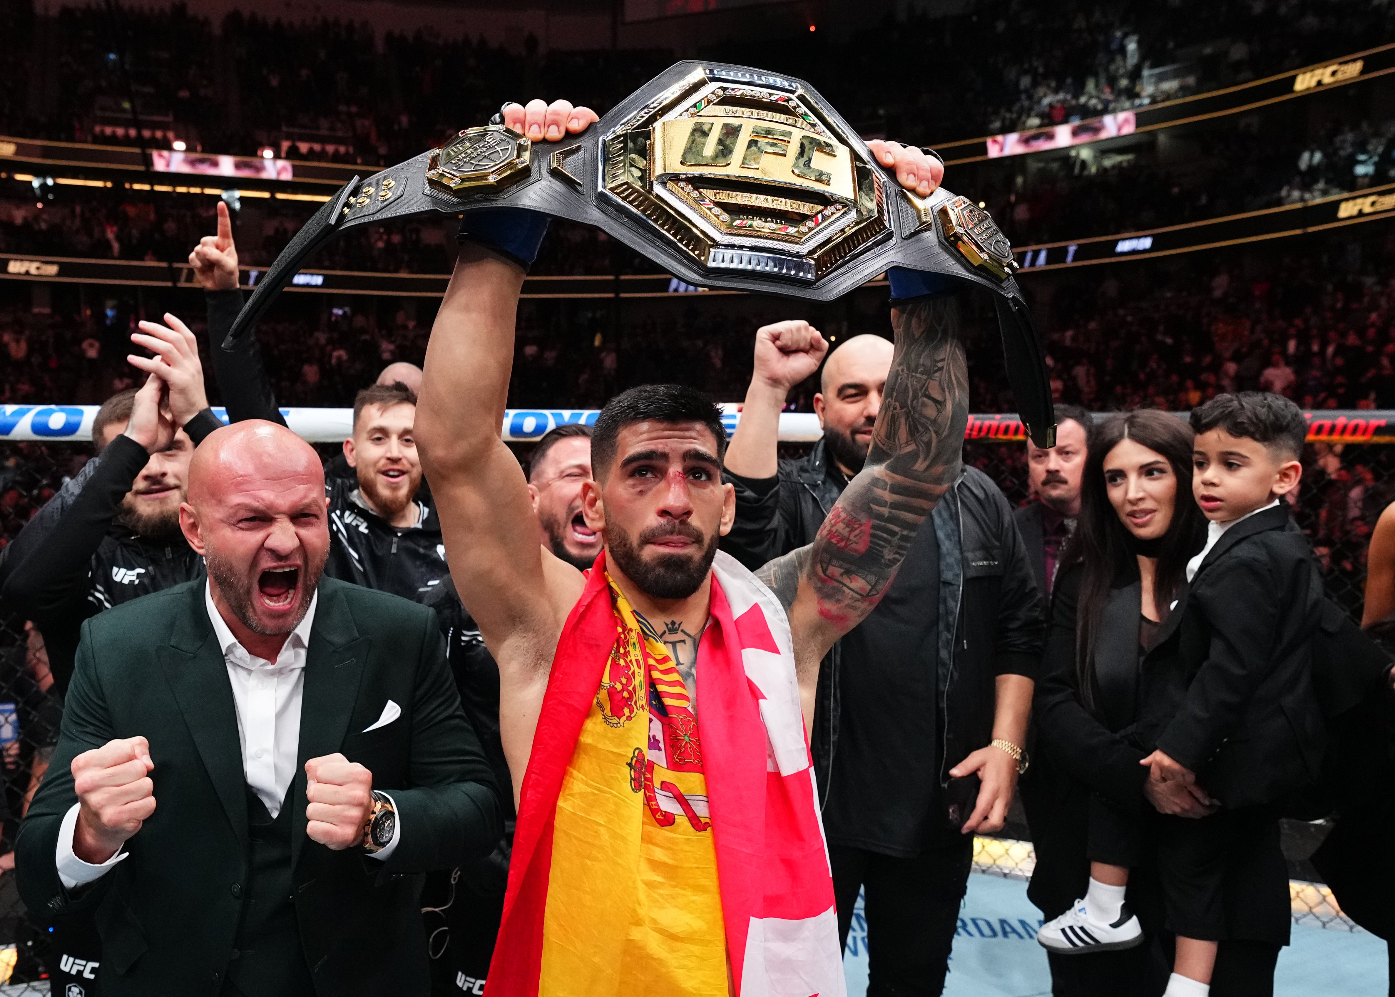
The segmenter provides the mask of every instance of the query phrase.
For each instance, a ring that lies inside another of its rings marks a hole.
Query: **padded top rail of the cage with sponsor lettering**
[[[92,439],[95,404],[0,404],[0,442],[85,442]],[[741,404],[721,406],[721,424],[735,432]],[[213,409],[223,423],[227,411]],[[339,443],[353,432],[353,409],[280,409],[292,432],[311,443]],[[1186,418],[1187,413],[1173,413]],[[531,443],[558,425],[594,425],[597,409],[508,409],[499,425],[506,443]],[[1395,411],[1335,410],[1304,411],[1310,443],[1391,443],[1395,442]],[[780,442],[812,443],[823,435],[819,417],[812,411],[780,413]],[[964,439],[989,443],[1021,443],[1027,439],[1016,413],[974,414],[968,417]]]

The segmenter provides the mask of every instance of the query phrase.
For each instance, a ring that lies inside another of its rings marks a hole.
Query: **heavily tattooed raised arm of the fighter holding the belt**
[[[819,661],[886,594],[915,531],[963,463],[968,363],[957,298],[897,303],[891,325],[896,356],[866,464],[805,548],[798,587],[787,602],[806,724],[813,717]],[[762,574],[784,581],[788,591],[799,554],[787,555],[792,565],[781,558]]]

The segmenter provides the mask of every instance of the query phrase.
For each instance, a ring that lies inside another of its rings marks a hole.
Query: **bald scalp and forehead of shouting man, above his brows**
[[[215,429],[194,450],[188,466],[188,501],[230,498],[234,482],[273,482],[289,477],[318,478],[325,470],[315,449],[278,423],[251,418]]]

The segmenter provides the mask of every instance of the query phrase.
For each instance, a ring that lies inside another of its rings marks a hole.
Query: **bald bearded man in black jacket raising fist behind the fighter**
[[[759,566],[815,540],[866,460],[891,354],[880,336],[830,353],[801,321],[756,333],[727,449],[737,522],[724,551]],[[820,364],[823,439],[780,460],[785,396]],[[869,994],[940,993],[974,832],[1003,827],[1025,759],[1039,607],[1007,499],[965,469],[917,531],[896,584],[823,661],[812,752],[844,944],[866,890]]]

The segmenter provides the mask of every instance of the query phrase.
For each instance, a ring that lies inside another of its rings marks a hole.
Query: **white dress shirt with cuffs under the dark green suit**
[[[310,600],[306,618],[290,632],[276,655],[276,661],[272,662],[258,658],[241,646],[213,604],[209,584],[204,583],[204,604],[208,608],[208,619],[213,625],[213,636],[223,653],[227,680],[233,689],[233,703],[237,707],[237,740],[243,753],[243,778],[266,806],[273,820],[280,813],[286,791],[296,779],[296,761],[300,752],[300,706],[306,689],[306,653],[310,647],[310,629],[315,622],[318,602],[319,593],[315,593]],[[68,809],[59,828],[59,878],[68,890],[99,878],[126,858],[126,851],[121,849],[106,862],[92,865],[73,853],[73,832],[77,828],[80,806],[74,803]],[[393,821],[392,827],[392,841],[388,842],[386,848],[374,852],[372,858],[386,860],[396,849],[402,831],[400,814],[398,816],[399,820]]]

